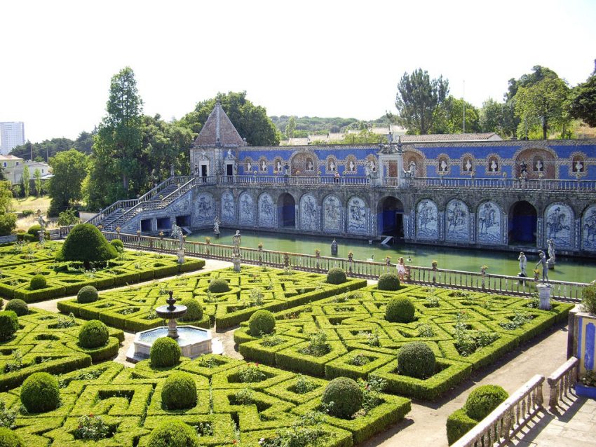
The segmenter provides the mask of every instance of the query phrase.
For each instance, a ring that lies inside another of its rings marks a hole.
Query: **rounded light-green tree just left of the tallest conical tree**
[[[48,194],[50,208],[48,214],[57,216],[83,197],[81,184],[87,175],[88,157],[76,149],[57,153],[50,158],[54,176],[49,179]]]

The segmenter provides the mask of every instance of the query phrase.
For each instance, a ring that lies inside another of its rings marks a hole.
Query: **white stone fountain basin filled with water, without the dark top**
[[[178,338],[176,343],[180,346],[183,357],[194,359],[199,355],[212,352],[211,331],[196,326],[178,326]],[[168,336],[168,326],[159,326],[147,331],[137,332],[133,346],[127,352],[126,358],[129,362],[140,362],[149,359],[151,345],[161,337]]]

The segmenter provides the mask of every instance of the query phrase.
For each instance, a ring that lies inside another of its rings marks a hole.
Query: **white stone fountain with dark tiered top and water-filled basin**
[[[194,359],[199,355],[216,352],[221,354],[223,351],[222,343],[215,341],[215,350],[212,348],[211,331],[196,326],[178,326],[176,319],[187,313],[187,306],[176,304],[176,298],[173,291],[168,291],[170,297],[166,303],[156,308],[158,317],[168,320],[168,326],[159,326],[147,331],[137,332],[135,341],[126,353],[126,359],[129,362],[139,362],[148,359],[151,352],[151,345],[161,337],[173,338],[180,346],[182,356]]]

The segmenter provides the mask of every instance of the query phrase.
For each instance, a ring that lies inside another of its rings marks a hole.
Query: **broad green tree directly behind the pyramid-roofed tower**
[[[180,119],[180,124],[194,132],[201,131],[209,114],[219,101],[241,137],[251,146],[277,146],[280,133],[262,106],[255,106],[246,99],[246,92],[217,93],[217,96],[196,104],[194,111]]]

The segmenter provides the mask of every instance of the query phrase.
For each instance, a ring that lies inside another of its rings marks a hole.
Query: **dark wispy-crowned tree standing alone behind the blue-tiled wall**
[[[427,134],[449,94],[449,81],[442,76],[431,79],[428,71],[417,69],[404,73],[398,83],[395,107],[398,123],[409,132]]]

